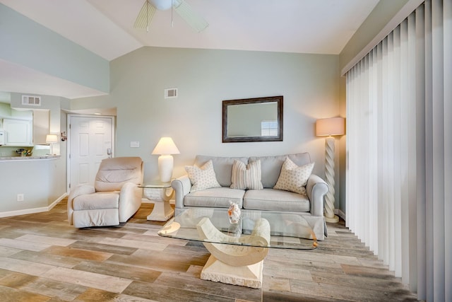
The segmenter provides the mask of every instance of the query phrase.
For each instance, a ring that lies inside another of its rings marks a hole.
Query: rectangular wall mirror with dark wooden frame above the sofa
[[[283,141],[283,96],[223,100],[222,142]]]

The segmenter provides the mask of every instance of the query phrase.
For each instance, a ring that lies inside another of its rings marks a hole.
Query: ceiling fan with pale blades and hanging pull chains
[[[208,27],[206,20],[184,0],[145,0],[133,27],[149,31],[149,23],[152,21],[155,11],[166,11],[169,8],[174,9],[198,33]]]

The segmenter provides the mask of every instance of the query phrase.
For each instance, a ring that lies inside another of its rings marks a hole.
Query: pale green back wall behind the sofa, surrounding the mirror
[[[157,156],[150,153],[163,136],[181,151],[174,156],[176,177],[196,154],[304,151],[324,177],[324,139],[314,127],[343,108],[338,56],[143,47],[112,61],[110,70],[110,95],[71,100],[71,109],[117,107],[116,156],[141,156],[145,180],[158,177]],[[165,88],[179,88],[179,97],[165,100]],[[222,143],[222,100],[273,95],[284,96],[283,141]],[[140,141],[140,148],[130,148],[130,141]]]

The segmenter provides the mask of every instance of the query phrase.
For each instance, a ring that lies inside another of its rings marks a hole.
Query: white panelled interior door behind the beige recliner
[[[114,117],[69,115],[69,190],[94,185],[100,162],[112,157]]]

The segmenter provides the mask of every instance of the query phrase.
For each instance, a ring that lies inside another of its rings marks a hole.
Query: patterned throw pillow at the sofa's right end
[[[299,167],[290,158],[286,158],[281,168],[280,177],[273,189],[285,190],[306,195],[306,184],[314,169],[314,163]]]

